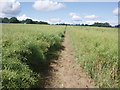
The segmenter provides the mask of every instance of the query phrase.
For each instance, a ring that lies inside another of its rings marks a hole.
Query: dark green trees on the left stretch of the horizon
[[[10,19],[8,19],[7,17],[0,18],[0,23],[48,24],[47,22],[44,21],[33,21],[32,19],[20,21],[16,17],[12,17]]]

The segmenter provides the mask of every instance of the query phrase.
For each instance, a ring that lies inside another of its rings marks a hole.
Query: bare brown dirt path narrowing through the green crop
[[[65,48],[60,58],[50,65],[45,88],[94,88],[93,81],[76,64],[67,34],[62,45]]]

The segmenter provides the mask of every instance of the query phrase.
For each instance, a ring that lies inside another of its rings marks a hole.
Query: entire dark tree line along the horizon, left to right
[[[26,20],[18,20],[16,17],[12,17],[10,19],[8,19],[7,17],[5,18],[0,18],[0,23],[24,23],[24,24],[49,24],[48,22],[44,22],[44,21],[33,21],[32,19],[26,19]],[[73,24],[65,24],[65,23],[61,23],[61,24],[56,24],[56,25],[73,25]],[[92,25],[88,25],[88,24],[75,24],[76,26],[97,26],[97,27],[112,27],[108,22],[105,23],[99,23],[99,22],[95,22]],[[114,26],[114,27],[120,27],[120,24]]]

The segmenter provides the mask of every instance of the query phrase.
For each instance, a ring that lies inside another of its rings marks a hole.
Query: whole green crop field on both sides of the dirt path
[[[95,85],[118,87],[117,28],[67,26],[65,33],[64,25],[2,27],[2,88],[43,88],[44,70],[54,57],[59,57],[65,34],[77,64],[88,72]]]

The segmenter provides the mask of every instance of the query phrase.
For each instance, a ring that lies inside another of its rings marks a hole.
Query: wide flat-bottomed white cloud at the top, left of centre
[[[53,2],[49,0],[37,0],[33,4],[33,8],[39,11],[55,11],[63,7],[64,5],[62,3]]]

